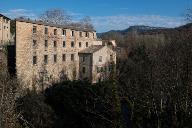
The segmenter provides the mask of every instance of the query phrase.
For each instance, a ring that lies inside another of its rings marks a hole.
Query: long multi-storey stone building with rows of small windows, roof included
[[[16,19],[15,37],[17,78],[26,85],[77,80],[81,66],[78,53],[93,45],[100,45],[101,51],[107,47],[97,39],[95,30],[28,19]]]

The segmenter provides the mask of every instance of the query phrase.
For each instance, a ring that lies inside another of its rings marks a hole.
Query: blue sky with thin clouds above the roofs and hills
[[[0,0],[0,13],[36,19],[47,9],[59,8],[74,20],[90,16],[97,32],[133,25],[173,28],[186,23],[192,0]]]

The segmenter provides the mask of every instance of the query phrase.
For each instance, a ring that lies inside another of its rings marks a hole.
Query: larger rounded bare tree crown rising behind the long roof
[[[71,22],[71,16],[62,9],[49,9],[39,16],[43,22],[66,25]]]

